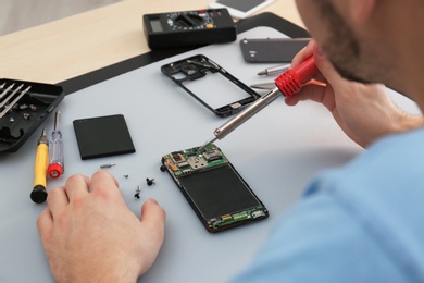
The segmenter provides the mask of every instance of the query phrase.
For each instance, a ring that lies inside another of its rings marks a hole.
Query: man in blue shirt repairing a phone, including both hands
[[[292,64],[313,54],[326,85],[305,86],[286,103],[322,103],[367,150],[313,180],[234,281],[424,282],[423,118],[402,113],[374,84],[424,109],[424,1],[297,4],[315,41]],[[126,282],[153,263],[164,221],[155,200],[136,219],[100,171],[52,189],[37,224],[58,281]]]

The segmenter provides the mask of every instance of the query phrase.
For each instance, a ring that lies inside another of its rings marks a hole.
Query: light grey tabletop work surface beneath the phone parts
[[[260,27],[244,37],[276,37]],[[319,171],[339,167],[362,149],[337,127],[320,104],[285,106],[283,98],[217,143],[271,217],[252,225],[210,234],[197,219],[167,173],[159,170],[164,153],[199,146],[212,137],[225,119],[215,116],[161,72],[162,64],[203,53],[246,84],[269,82],[255,74],[269,64],[244,62],[237,42],[210,46],[117,76],[67,96],[61,104],[65,143],[65,176],[49,180],[52,188],[74,173],[91,175],[103,163],[121,184],[137,216],[144,200],[153,197],[167,212],[165,243],[152,269],[140,282],[224,282],[253,260],[277,217],[292,206]],[[204,91],[214,93],[210,87]],[[414,103],[391,93],[397,103],[417,112]],[[136,153],[82,161],[72,121],[124,114]],[[52,116],[43,124],[50,132]],[[41,130],[41,128],[40,128]],[[53,282],[36,229],[45,205],[29,199],[38,133],[13,155],[0,156],[0,282]],[[128,174],[125,179],[123,175]],[[146,177],[157,185],[148,187]],[[141,199],[135,199],[141,185]]]

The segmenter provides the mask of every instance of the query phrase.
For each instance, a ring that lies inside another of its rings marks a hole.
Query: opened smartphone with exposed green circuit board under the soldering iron
[[[269,217],[265,206],[219,147],[211,144],[202,152],[198,149],[163,156],[161,170],[171,174],[209,232]]]

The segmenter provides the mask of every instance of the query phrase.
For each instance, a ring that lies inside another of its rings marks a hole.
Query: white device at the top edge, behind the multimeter
[[[274,0],[215,0],[209,8],[226,8],[233,17],[245,19],[272,2]]]

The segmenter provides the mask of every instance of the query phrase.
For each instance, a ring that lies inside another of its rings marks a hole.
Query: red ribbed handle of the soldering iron
[[[287,70],[275,78],[275,85],[284,96],[289,97],[299,91],[302,85],[310,81],[317,71],[315,60],[313,59],[313,56],[311,56],[300,65]]]

